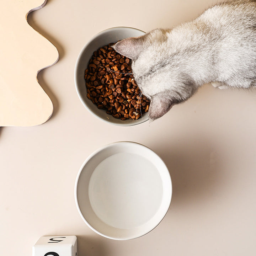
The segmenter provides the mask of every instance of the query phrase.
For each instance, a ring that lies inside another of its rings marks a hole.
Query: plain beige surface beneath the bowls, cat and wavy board
[[[113,26],[144,31],[196,17],[213,2],[48,0],[28,20],[58,49],[57,64],[39,73],[54,105],[35,127],[0,128],[0,251],[31,255],[43,235],[77,235],[79,255],[255,255],[256,91],[203,86],[164,117],[116,127],[79,101],[74,65],[84,44]],[[149,234],[114,241],[91,231],[74,201],[74,182],[94,150],[120,140],[142,143],[166,162],[173,197]]]

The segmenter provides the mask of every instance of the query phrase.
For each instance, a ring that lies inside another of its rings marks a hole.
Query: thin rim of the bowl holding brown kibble
[[[75,89],[76,89],[76,93],[82,103],[82,105],[87,109],[87,111],[89,111],[93,116],[95,116],[96,118],[108,123],[108,124],[112,124],[112,125],[116,125],[116,126],[123,126],[123,127],[128,127],[128,126],[135,126],[137,124],[141,124],[141,123],[144,123],[146,121],[149,120],[149,117],[148,117],[148,113],[145,117],[141,117],[137,120],[133,120],[134,122],[130,122],[130,123],[126,123],[125,121],[120,122],[120,123],[116,123],[116,122],[112,122],[112,121],[109,121],[109,120],[106,120],[104,118],[101,118],[100,116],[98,116],[94,111],[90,110],[90,108],[87,106],[87,104],[85,103],[84,99],[82,98],[81,94],[80,94],[80,91],[79,91],[79,82],[78,82],[78,66],[79,66],[79,63],[80,63],[80,60],[82,58],[82,55],[85,51],[85,49],[89,46],[89,44],[94,41],[94,39],[96,39],[98,36],[100,36],[101,34],[103,33],[106,33],[107,31],[113,31],[113,30],[119,30],[119,29],[127,29],[127,30],[136,30],[136,31],[141,31],[143,33],[146,33],[145,31],[143,30],[140,30],[138,28],[134,28],[134,27],[124,27],[124,26],[117,26],[117,27],[111,27],[111,28],[106,28],[105,30],[102,30],[100,32],[98,32],[97,34],[95,34],[93,37],[91,37],[89,39],[89,41],[87,41],[87,43],[82,47],[82,49],[80,50],[80,53],[76,59],[76,62],[75,62],[75,69],[74,69],[74,80],[75,80]],[[139,121],[138,121],[139,120]]]

